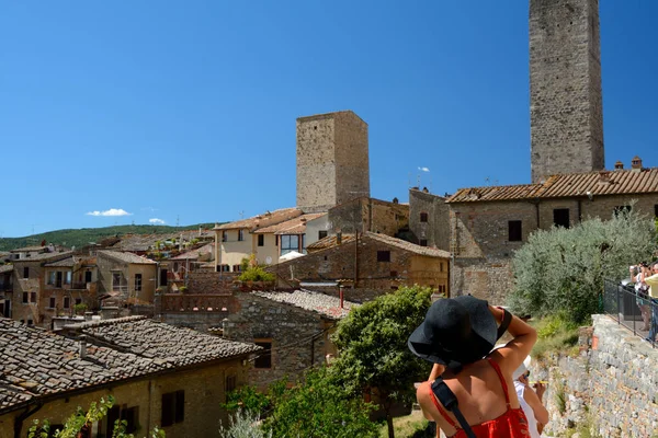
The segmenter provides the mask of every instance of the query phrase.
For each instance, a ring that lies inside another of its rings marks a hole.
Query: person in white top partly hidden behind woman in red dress
[[[527,418],[527,428],[532,438],[540,438],[544,426],[548,423],[548,411],[542,403],[542,396],[546,391],[546,387],[537,382],[535,390],[530,387],[530,356],[523,360],[523,364],[517,368],[512,378],[514,379],[514,389],[517,390],[517,396],[519,397],[519,404]]]

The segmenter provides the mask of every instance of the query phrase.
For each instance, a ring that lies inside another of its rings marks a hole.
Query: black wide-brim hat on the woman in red
[[[485,357],[498,339],[489,303],[473,296],[435,301],[407,345],[416,356],[449,368]]]

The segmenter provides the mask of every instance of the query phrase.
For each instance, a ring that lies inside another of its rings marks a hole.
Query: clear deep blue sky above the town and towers
[[[658,2],[600,12],[606,168],[656,166]],[[292,207],[295,119],[339,110],[373,197],[530,182],[522,0],[5,1],[0,54],[0,237]]]

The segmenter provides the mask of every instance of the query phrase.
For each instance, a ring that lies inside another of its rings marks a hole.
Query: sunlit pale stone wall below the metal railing
[[[601,437],[658,434],[658,349],[606,315],[580,330],[579,348],[534,360],[531,380],[548,380],[545,435],[591,426]]]

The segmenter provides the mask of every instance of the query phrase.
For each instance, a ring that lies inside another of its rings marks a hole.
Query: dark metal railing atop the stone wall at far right
[[[605,279],[602,298],[603,312],[645,341],[648,339],[651,324],[658,325],[658,301],[638,295],[632,285]],[[648,315],[649,330],[644,330],[643,312]],[[656,339],[649,342],[653,347],[658,347]]]

